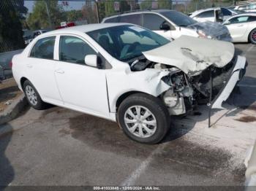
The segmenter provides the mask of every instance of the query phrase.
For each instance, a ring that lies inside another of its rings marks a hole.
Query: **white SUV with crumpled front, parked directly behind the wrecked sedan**
[[[225,40],[227,42],[232,41],[225,26],[219,23],[197,23],[196,20],[181,12],[168,9],[153,9],[114,15],[105,17],[102,23],[132,23],[148,28],[170,40],[186,35]]]

